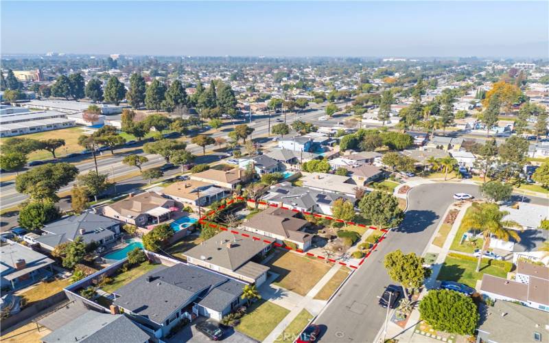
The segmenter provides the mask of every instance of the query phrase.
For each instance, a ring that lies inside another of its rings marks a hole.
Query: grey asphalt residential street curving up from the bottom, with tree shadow
[[[404,253],[421,255],[448,206],[454,202],[454,193],[470,193],[480,197],[478,186],[436,183],[414,187],[408,193],[408,210],[402,224],[390,231],[377,250],[364,261],[343,285],[315,324],[323,329],[323,342],[373,342],[382,328],[386,309],[378,305],[385,287],[395,284],[390,280],[383,259],[388,252],[400,249]],[[515,195],[516,200],[522,196]],[[548,204],[541,198],[524,198],[525,202]]]

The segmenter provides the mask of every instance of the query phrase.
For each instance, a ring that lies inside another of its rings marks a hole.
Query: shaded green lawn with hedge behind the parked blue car
[[[454,257],[446,257],[441,272],[437,277],[438,280],[457,281],[465,285],[475,287],[476,281],[482,279],[482,274],[490,274],[506,278],[507,273],[499,267],[482,263],[480,272],[475,272],[476,262],[465,259],[456,259]]]

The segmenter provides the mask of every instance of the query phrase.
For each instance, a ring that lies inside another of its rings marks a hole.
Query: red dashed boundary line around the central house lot
[[[246,199],[246,198],[243,198],[243,197],[236,197],[236,200],[244,200],[246,202],[253,202],[255,203],[255,200],[253,199]],[[340,261],[336,261],[335,259],[328,259],[327,257],[324,257],[322,255],[315,255],[311,252],[304,252],[303,250],[301,249],[294,249],[294,248],[290,248],[289,246],[286,246],[285,244],[280,244],[278,243],[277,241],[268,241],[267,239],[261,239],[259,237],[255,237],[253,234],[249,233],[248,231],[246,231],[245,233],[244,232],[240,232],[240,231],[237,231],[237,230],[231,230],[230,228],[226,228],[224,226],[221,226],[221,225],[218,225],[218,224],[213,224],[213,223],[210,223],[210,222],[206,222],[207,220],[207,217],[209,217],[209,215],[212,215],[214,214],[215,212],[217,211],[220,211],[222,209],[225,208],[225,206],[228,206],[230,204],[233,204],[233,202],[235,202],[235,199],[231,199],[229,200],[228,202],[226,202],[226,205],[221,205],[219,206],[218,209],[215,209],[215,210],[211,210],[209,211],[208,213],[206,213],[205,215],[203,215],[202,217],[200,217],[200,219],[198,220],[198,222],[202,225],[204,224],[208,224],[211,228],[219,228],[220,230],[223,230],[223,231],[229,231],[235,235],[242,235],[242,237],[246,237],[246,238],[250,238],[250,239],[253,239],[255,241],[264,241],[264,243],[266,244],[272,244],[273,246],[276,246],[277,248],[283,248],[283,249],[286,249],[286,250],[294,250],[295,252],[299,252],[301,254],[304,254],[304,255],[307,255],[307,256],[310,256],[310,257],[316,257],[317,259],[321,259],[321,260],[327,260],[331,263],[339,263],[340,265],[344,265],[346,267],[349,267],[351,269],[354,269],[354,270],[357,270],[360,265],[362,265],[362,263],[364,263],[364,261],[370,257],[371,253],[373,252],[373,250],[375,250],[375,248],[377,248],[377,246],[387,237],[387,233],[388,233],[388,230],[386,228],[382,228],[382,229],[379,229],[379,231],[382,232],[382,236],[379,237],[377,239],[377,241],[375,241],[375,243],[373,244],[372,248],[369,250],[369,252],[364,255],[364,257],[362,257],[362,259],[360,259],[358,265],[353,265],[351,263],[344,263],[344,262],[340,262]],[[327,220],[335,220],[336,222],[340,222],[340,223],[344,223],[344,224],[349,224],[349,225],[356,225],[356,226],[360,226],[362,228],[369,228],[371,230],[378,230],[377,227],[375,226],[367,226],[367,225],[364,225],[364,224],[357,224],[355,222],[346,222],[344,220],[340,220],[340,219],[336,219],[334,217],[330,217],[329,215],[321,215],[321,214],[318,214],[318,213],[311,213],[311,212],[301,212],[299,210],[296,210],[296,209],[288,209],[288,207],[284,207],[284,206],[279,206],[277,204],[269,204],[268,202],[264,202],[264,201],[258,201],[257,202],[258,204],[261,204],[261,205],[269,205],[271,207],[280,207],[281,209],[285,209],[285,210],[288,210],[288,211],[292,211],[292,212],[296,212],[296,213],[303,213],[303,214],[306,214],[306,215],[314,215],[315,217],[319,217],[319,218],[324,218],[324,219],[327,219]]]

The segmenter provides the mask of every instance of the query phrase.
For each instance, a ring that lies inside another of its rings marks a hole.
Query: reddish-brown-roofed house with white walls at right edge
[[[522,305],[549,312],[549,268],[517,262],[515,281],[484,274],[480,292],[490,298],[518,301]]]

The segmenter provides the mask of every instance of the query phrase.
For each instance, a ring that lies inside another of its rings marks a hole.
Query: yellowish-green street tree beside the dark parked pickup
[[[404,255],[401,250],[389,252],[384,258],[385,269],[393,281],[400,283],[406,294],[406,299],[410,298],[410,289],[418,289],[423,284],[423,280],[428,276],[428,270],[423,268],[423,258],[410,252]]]

